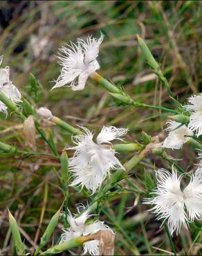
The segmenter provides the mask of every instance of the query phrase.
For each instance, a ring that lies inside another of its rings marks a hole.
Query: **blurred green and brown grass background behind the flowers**
[[[172,107],[169,95],[145,64],[136,41],[138,33],[145,39],[175,95],[183,102],[193,92],[202,90],[201,1],[1,1],[0,2],[0,54],[2,66],[10,66],[11,80],[21,93],[37,107],[46,106],[55,116],[71,125],[84,125],[98,131],[102,125],[128,127],[127,140],[140,140],[140,132],[150,135],[160,133],[167,116],[150,109],[122,107],[114,103],[109,94],[98,84],[88,80],[83,91],[68,88],[50,91],[53,80],[59,75],[57,64],[59,46],[75,41],[77,37],[104,34],[100,46],[100,74],[124,89],[132,98],[148,104]],[[30,73],[39,82],[40,91],[30,90]],[[154,116],[154,118],[151,118]],[[156,118],[155,118],[156,116]],[[26,149],[20,120],[1,114],[0,140]],[[149,118],[149,119],[148,119]],[[57,127],[45,127],[53,132],[59,154],[71,144],[71,136]],[[41,138],[37,138],[37,151],[48,152]],[[194,154],[187,147],[172,156],[183,158],[179,165],[190,170]],[[132,154],[119,156],[126,161]],[[53,213],[62,204],[63,196],[55,172],[59,164],[47,156],[0,155],[0,250],[1,254],[14,251],[8,229],[7,208],[24,230],[28,247],[34,247],[35,237],[44,205],[44,218],[40,234]],[[156,167],[167,167],[165,161],[149,156],[135,168],[129,181],[143,192],[145,169],[154,178]],[[48,199],[44,201],[44,184],[48,183]],[[123,183],[127,186],[127,183]],[[71,192],[74,193],[73,190]],[[144,194],[144,193],[143,193]],[[101,219],[117,232],[116,254],[133,254],[133,244],[141,254],[169,254],[170,245],[160,223],[154,221],[141,204],[143,195],[136,192],[116,195],[110,202],[103,201]],[[86,204],[82,194],[73,194],[70,208],[75,203]],[[111,219],[109,218],[111,216]],[[121,228],[120,228],[121,227]],[[62,225],[55,231],[57,241]],[[196,241],[194,241],[194,239]],[[196,244],[192,244],[197,242]],[[176,249],[181,254],[196,254],[201,248],[201,233],[181,232],[175,237]],[[51,241],[50,241],[51,244]],[[50,246],[49,244],[49,246]],[[153,247],[152,247],[153,246]],[[163,252],[162,250],[165,250]],[[168,251],[168,252],[167,252]],[[80,254],[80,248],[73,250]]]

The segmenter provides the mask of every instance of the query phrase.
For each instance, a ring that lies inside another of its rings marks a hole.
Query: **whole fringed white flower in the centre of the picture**
[[[111,140],[122,140],[127,129],[103,127],[97,136],[97,143],[93,141],[92,131],[84,127],[82,129],[84,134],[73,137],[76,146],[68,148],[75,150],[73,158],[69,159],[70,170],[75,177],[71,185],[80,184],[82,188],[85,186],[95,193],[111,169],[124,168],[115,156]]]

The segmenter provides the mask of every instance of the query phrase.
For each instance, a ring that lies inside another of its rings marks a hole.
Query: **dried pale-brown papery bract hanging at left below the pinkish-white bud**
[[[24,120],[24,136],[26,140],[26,145],[31,149],[36,147],[36,129],[35,129],[35,119],[32,115],[28,116]]]

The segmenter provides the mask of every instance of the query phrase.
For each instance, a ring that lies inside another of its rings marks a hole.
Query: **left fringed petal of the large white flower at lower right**
[[[177,176],[173,169],[172,173],[160,169],[156,172],[157,188],[152,199],[145,199],[144,203],[152,204],[151,209],[157,215],[157,219],[165,219],[171,234],[176,230],[178,233],[182,223],[185,227],[187,216],[184,210],[183,192],[180,183],[182,176]]]

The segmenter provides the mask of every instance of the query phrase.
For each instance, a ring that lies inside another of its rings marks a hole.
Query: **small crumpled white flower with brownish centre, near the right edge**
[[[169,131],[169,134],[164,140],[162,147],[169,149],[180,149],[184,143],[187,143],[187,141],[190,140],[189,136],[194,135],[186,125],[182,125],[180,122],[172,120],[167,122],[166,131]]]

